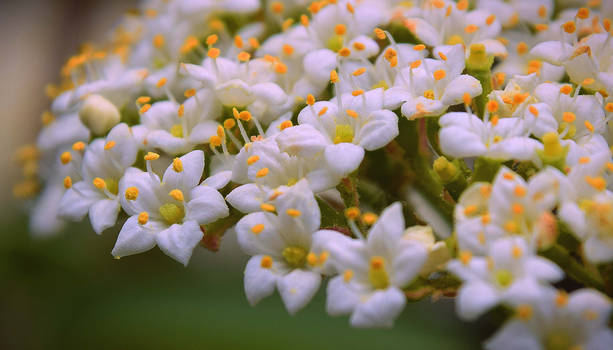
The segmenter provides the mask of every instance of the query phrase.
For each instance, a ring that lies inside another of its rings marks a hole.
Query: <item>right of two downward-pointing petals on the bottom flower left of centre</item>
[[[295,269],[277,280],[277,289],[290,314],[295,314],[313,298],[319,285],[319,273]]]

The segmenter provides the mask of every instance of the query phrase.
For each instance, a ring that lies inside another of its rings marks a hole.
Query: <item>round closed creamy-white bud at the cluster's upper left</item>
[[[79,110],[81,122],[95,135],[104,135],[119,123],[119,110],[100,95],[89,95]]]

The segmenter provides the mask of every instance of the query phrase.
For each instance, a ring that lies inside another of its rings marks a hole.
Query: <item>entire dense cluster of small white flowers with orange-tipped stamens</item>
[[[457,295],[506,317],[487,348],[607,349],[613,8],[583,2],[144,1],[48,87],[15,194],[36,234],[121,226],[116,258],[235,234],[251,304],[327,278],[356,327]]]

